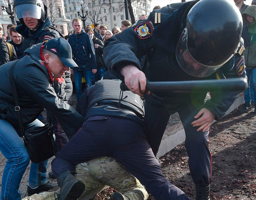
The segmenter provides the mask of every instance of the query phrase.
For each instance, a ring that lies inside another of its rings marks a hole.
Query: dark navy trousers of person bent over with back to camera
[[[189,200],[182,190],[164,178],[144,128],[125,118],[88,118],[57,153],[52,171],[58,177],[67,170],[74,172],[77,164],[102,156],[111,156],[121,162],[157,200]]]

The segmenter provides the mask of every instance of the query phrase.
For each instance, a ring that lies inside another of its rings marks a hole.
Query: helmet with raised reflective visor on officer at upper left
[[[44,23],[47,19],[47,8],[42,0],[14,0],[14,12],[22,24],[24,17],[32,17]]]

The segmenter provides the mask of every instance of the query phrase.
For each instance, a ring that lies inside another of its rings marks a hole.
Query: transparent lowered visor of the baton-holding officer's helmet
[[[202,64],[198,61],[196,61],[193,56],[191,56],[188,46],[187,46],[187,41],[188,41],[188,30],[187,28],[184,28],[180,40],[178,42],[178,45],[176,47],[176,59],[178,61],[178,64],[180,67],[188,74],[191,76],[196,76],[196,77],[206,77],[212,75],[218,68],[223,66],[234,54],[230,55],[230,57],[222,62],[221,64],[217,66],[207,66],[205,64]]]

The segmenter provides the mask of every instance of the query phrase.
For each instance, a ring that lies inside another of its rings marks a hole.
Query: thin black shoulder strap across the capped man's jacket
[[[16,60],[16,61],[13,62],[12,66],[10,68],[10,72],[9,72],[9,79],[10,79],[10,84],[11,84],[11,87],[12,87],[12,93],[13,93],[13,97],[14,97],[14,105],[15,105],[14,109],[15,109],[15,111],[17,111],[17,114],[18,114],[18,120],[19,120],[19,124],[20,124],[20,131],[22,133],[22,138],[23,138],[24,144],[26,146],[26,139],[25,139],[25,136],[24,136],[24,127],[23,127],[23,124],[22,124],[18,94],[17,94],[16,84],[15,84],[14,75],[13,75],[14,67],[15,67],[15,65],[17,64],[18,61],[19,60]]]

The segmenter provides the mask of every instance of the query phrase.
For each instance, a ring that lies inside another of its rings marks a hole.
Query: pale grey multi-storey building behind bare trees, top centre
[[[86,17],[86,26],[94,23],[104,24],[109,30],[114,26],[121,27],[122,20],[125,20],[124,0],[83,0],[83,7],[88,7],[88,14]],[[64,0],[64,8],[66,18],[70,19],[68,23],[68,31],[73,30],[72,20],[79,18],[78,11],[81,5],[78,0]],[[135,0],[132,2],[135,21],[142,14],[148,15],[151,12],[151,0]],[[129,20],[131,17],[129,14]]]

